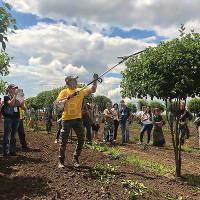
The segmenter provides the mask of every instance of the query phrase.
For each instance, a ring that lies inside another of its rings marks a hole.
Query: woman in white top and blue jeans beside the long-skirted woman
[[[143,143],[143,136],[145,131],[147,131],[147,144],[149,144],[151,139],[151,130],[153,128],[152,114],[149,106],[147,106],[145,112],[141,114],[141,122],[142,122],[142,128],[140,131],[140,144]]]

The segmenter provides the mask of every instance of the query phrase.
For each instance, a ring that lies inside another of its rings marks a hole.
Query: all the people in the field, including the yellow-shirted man
[[[77,76],[66,77],[67,89],[60,92],[56,102],[61,102],[66,98],[70,98],[65,102],[62,112],[57,115],[57,134],[55,143],[59,143],[59,163],[58,167],[64,167],[65,150],[69,134],[73,129],[77,135],[77,146],[73,155],[74,166],[79,166],[79,156],[81,154],[84,141],[89,145],[93,142],[97,143],[102,138],[103,143],[124,145],[130,142],[129,126],[133,117],[131,109],[126,106],[124,100],[118,105],[115,103],[106,104],[103,113],[100,112],[97,104],[89,104],[87,96],[94,93],[97,88],[97,75],[93,76],[93,84],[90,88],[77,88]],[[76,94],[76,95],[74,95]],[[27,150],[27,142],[24,132],[22,111],[28,112],[28,127],[34,128],[36,120],[36,111],[31,106],[25,106],[24,102],[17,99],[18,87],[10,84],[4,96],[4,103],[1,103],[1,113],[4,118],[4,134],[2,142],[3,157],[16,156],[16,133],[18,132],[19,140],[23,150]],[[151,110],[149,106],[142,106],[141,111],[136,114],[141,129],[139,144],[144,143],[144,134],[147,133],[146,145],[150,144],[151,135],[153,146],[164,146],[165,136],[162,127],[165,121],[162,117],[162,110],[155,108]],[[189,129],[187,120],[190,114],[185,108],[185,103],[180,103],[179,109],[179,130],[181,134],[181,143],[189,138]],[[1,116],[0,116],[1,118]],[[43,121],[46,124],[46,130],[49,133],[52,127],[52,111],[46,110],[43,113]],[[2,120],[2,118],[0,119]],[[103,126],[102,126],[103,124]],[[103,134],[99,137],[99,129],[103,127]],[[121,129],[121,139],[118,138],[118,128]],[[7,149],[8,146],[8,149]]]

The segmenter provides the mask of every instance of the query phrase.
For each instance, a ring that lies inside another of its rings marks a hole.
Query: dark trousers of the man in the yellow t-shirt
[[[71,128],[75,131],[78,142],[76,145],[76,150],[74,157],[79,157],[84,144],[84,129],[81,119],[72,119],[72,120],[62,120],[62,129],[61,129],[61,143],[59,149],[59,160],[64,162],[65,160],[65,150],[67,146],[67,141],[69,138],[69,133]]]

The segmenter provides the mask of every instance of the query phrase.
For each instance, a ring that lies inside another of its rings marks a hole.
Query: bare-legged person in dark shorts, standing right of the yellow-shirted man
[[[98,139],[98,131],[100,129],[100,123],[101,123],[101,113],[99,112],[98,105],[94,104],[92,107],[92,140],[94,142],[97,142]]]

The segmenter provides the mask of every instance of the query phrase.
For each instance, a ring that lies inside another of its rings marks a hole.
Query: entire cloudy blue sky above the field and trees
[[[18,30],[8,35],[7,52],[14,59],[3,79],[22,88],[26,97],[63,86],[68,75],[87,83],[93,73],[102,74],[118,63],[118,56],[178,37],[181,24],[200,31],[200,0],[5,2]],[[119,102],[124,69],[121,64],[107,74],[96,95]]]

